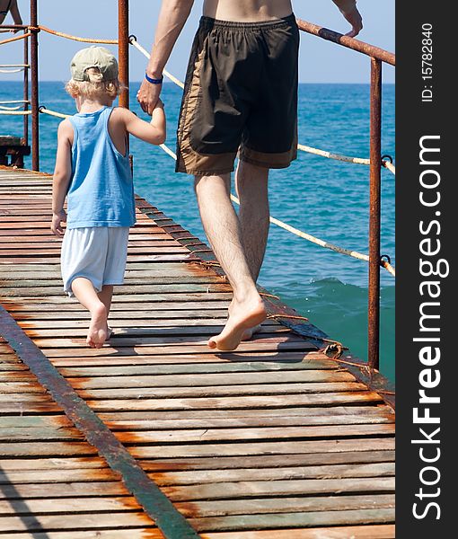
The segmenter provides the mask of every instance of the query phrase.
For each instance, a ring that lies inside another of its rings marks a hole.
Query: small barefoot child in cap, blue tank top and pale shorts
[[[162,102],[151,123],[130,110],[112,108],[120,84],[118,62],[108,49],[80,50],[70,69],[66,91],[75,98],[78,113],[62,121],[57,131],[51,230],[64,235],[61,223],[66,221],[64,289],[91,313],[86,342],[101,348],[110,338],[113,285],[123,283],[129,227],[136,222],[128,133],[163,144],[165,114]]]

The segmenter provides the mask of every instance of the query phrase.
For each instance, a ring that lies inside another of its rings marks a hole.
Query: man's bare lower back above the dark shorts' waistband
[[[291,0],[205,0],[204,15],[220,21],[259,22],[292,13]]]

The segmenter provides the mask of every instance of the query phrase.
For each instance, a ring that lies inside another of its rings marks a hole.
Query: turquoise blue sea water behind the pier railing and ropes
[[[131,94],[138,84],[131,84]],[[21,83],[0,83],[0,101],[17,99]],[[181,91],[165,84],[163,101],[169,120],[167,144],[173,148]],[[63,83],[41,83],[40,103],[74,113]],[[132,109],[139,110],[132,102]],[[0,132],[22,133],[21,117],[0,116]],[[41,170],[52,172],[58,119],[40,116]],[[328,151],[369,155],[369,86],[301,84],[299,140]],[[383,154],[394,157],[394,86],[383,86]],[[191,179],[173,172],[172,159],[159,148],[133,139],[137,193],[204,237]],[[30,166],[30,161],[26,162]],[[383,169],[382,252],[394,260],[394,177]],[[287,171],[270,179],[273,216],[348,249],[368,249],[368,167],[338,163],[300,152]],[[260,284],[281,296],[333,339],[366,358],[367,265],[330,252],[272,225]],[[382,372],[394,377],[394,279],[382,273]]]

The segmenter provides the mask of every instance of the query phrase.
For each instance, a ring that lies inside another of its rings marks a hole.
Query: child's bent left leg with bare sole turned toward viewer
[[[108,334],[107,307],[101,301],[92,282],[87,278],[75,278],[72,282],[72,291],[76,299],[91,313],[87,344],[91,348],[101,348]]]

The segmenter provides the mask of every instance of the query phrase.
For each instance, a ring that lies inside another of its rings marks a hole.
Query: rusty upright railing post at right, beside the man
[[[371,166],[369,209],[369,366],[378,370],[380,352],[380,229],[381,229],[381,145],[382,145],[382,62],[371,57]]]

